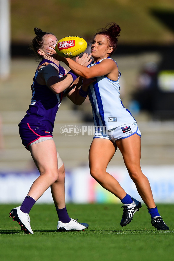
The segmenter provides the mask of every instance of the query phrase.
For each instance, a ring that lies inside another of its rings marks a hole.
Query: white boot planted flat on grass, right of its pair
[[[63,223],[61,221],[58,221],[57,223],[57,231],[58,232],[64,232],[64,231],[80,231],[88,228],[88,224],[86,223],[79,223],[77,220],[72,219],[69,223]]]

